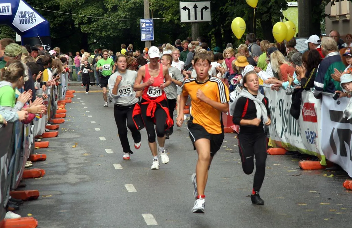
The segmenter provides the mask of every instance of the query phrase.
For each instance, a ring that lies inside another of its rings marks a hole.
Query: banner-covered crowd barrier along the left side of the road
[[[15,122],[8,123],[6,127],[0,125],[0,224],[5,218],[10,191],[18,187],[26,161],[30,154],[34,154],[34,137],[45,132],[46,122],[55,115],[57,101],[65,98],[67,78],[68,74],[63,74],[61,84],[51,86],[44,92],[48,94],[43,102],[48,108],[47,114],[36,115],[29,124]],[[37,94],[42,94],[42,89]]]

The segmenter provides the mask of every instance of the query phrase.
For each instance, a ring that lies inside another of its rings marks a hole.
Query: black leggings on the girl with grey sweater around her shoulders
[[[265,176],[265,160],[268,145],[264,131],[253,134],[240,133],[237,138],[242,169],[246,174],[252,174],[254,169],[253,155],[256,157],[256,173],[254,173],[253,190],[259,192]]]

